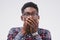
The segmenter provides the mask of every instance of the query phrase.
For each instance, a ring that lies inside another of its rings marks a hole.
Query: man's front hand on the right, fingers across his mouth
[[[30,33],[35,33],[38,28],[38,20],[32,17],[28,17],[26,23],[30,26]],[[28,29],[29,30],[29,29]]]

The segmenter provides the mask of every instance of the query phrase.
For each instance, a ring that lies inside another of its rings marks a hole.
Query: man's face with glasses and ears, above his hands
[[[34,19],[37,19],[37,21],[38,21],[39,15],[38,15],[37,10],[35,8],[33,8],[33,7],[25,8],[24,12],[22,13],[21,18],[22,18],[23,21],[25,21],[26,18],[28,18],[28,17],[32,17]]]

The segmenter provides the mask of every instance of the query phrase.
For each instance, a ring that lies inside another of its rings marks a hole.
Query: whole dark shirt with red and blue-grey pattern
[[[20,27],[12,28],[9,31],[7,40],[51,40],[50,32],[46,29],[38,28],[38,35],[22,35]]]

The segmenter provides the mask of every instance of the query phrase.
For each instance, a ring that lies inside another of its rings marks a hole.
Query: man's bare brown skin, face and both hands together
[[[24,21],[21,33],[26,35],[28,33],[35,33],[38,29],[39,15],[35,8],[27,7],[22,13],[21,19]]]

